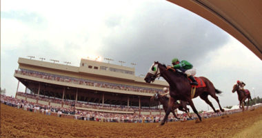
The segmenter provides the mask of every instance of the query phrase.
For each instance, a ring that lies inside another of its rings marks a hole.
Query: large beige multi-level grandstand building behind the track
[[[150,97],[163,92],[168,83],[145,83],[142,77],[135,76],[134,68],[89,59],[81,59],[79,67],[24,58],[19,58],[18,63],[14,77],[26,90],[17,91],[17,99],[97,112],[164,113],[159,102],[150,101]]]

